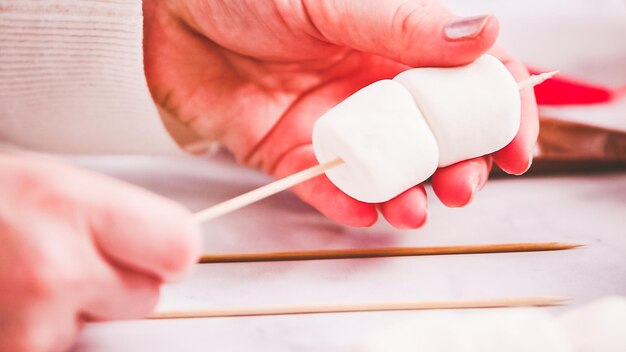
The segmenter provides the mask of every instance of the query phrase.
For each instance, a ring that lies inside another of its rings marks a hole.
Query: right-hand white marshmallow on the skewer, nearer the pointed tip
[[[493,153],[517,134],[515,79],[490,55],[452,68],[415,68],[394,81],[413,95],[439,145],[439,167]]]

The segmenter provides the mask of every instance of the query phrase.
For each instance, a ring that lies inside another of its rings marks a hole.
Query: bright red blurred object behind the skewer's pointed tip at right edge
[[[545,70],[530,70],[532,74]],[[602,85],[587,83],[562,74],[535,86],[537,104],[544,105],[575,105],[600,104],[613,100],[624,89],[612,89]]]

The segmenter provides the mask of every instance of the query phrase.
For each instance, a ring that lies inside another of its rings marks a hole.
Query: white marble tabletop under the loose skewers
[[[91,158],[80,164],[200,209],[269,179],[212,160]],[[432,195],[432,193],[430,194]],[[626,174],[496,179],[464,209],[431,197],[417,231],[349,229],[282,193],[205,226],[207,252],[525,241],[584,242],[563,252],[200,265],[163,291],[161,308],[563,295],[573,306],[626,295]],[[550,308],[551,311],[569,309]],[[76,351],[344,351],[425,312],[328,314],[87,327]],[[464,314],[430,312],[428,314]]]

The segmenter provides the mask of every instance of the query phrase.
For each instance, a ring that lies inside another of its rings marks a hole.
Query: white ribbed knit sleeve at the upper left
[[[0,142],[180,153],[143,71],[141,0],[0,0]]]

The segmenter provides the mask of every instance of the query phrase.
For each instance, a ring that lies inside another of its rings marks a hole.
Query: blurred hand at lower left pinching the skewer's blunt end
[[[104,176],[0,155],[0,351],[66,350],[85,322],[140,318],[198,255],[179,205]]]

